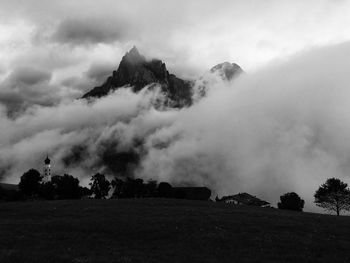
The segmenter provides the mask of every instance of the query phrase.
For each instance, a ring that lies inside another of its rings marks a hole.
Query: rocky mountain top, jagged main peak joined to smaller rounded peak
[[[181,108],[190,106],[193,99],[205,96],[207,86],[213,85],[213,82],[229,82],[243,72],[236,63],[223,62],[212,67],[196,81],[183,80],[170,74],[161,60],[147,60],[134,46],[123,56],[118,69],[101,86],[84,94],[83,98],[100,98],[125,86],[133,92],[139,92],[146,86],[148,89],[160,86],[165,99],[163,106]]]

